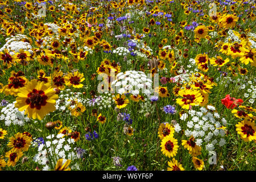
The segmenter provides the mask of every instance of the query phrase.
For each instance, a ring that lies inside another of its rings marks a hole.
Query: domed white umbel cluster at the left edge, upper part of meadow
[[[10,38],[5,39],[6,43],[3,45],[2,48],[0,48],[0,52],[8,49],[10,55],[14,55],[15,52],[19,52],[20,49],[23,49],[24,51],[33,53],[30,43],[23,42],[22,39],[28,40],[27,36],[22,34],[17,34],[15,36],[12,35]]]

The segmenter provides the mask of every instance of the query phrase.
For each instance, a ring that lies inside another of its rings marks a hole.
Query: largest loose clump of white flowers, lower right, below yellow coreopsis
[[[217,146],[226,144],[226,119],[221,118],[214,106],[201,107],[200,111],[189,110],[181,115],[180,119],[187,122],[185,135],[193,136],[198,146],[213,151]]]

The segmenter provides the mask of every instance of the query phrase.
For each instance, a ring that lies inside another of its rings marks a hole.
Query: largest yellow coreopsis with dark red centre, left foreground
[[[26,86],[20,88],[15,107],[19,111],[25,110],[24,114],[28,114],[28,118],[42,120],[46,114],[56,109],[57,98],[51,84],[31,80]]]

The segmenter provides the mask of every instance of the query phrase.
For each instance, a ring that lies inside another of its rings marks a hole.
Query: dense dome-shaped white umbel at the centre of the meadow
[[[119,94],[131,93],[135,96],[143,93],[148,96],[154,92],[152,90],[152,80],[147,78],[146,74],[141,71],[118,73],[112,85],[115,86],[115,91]]]

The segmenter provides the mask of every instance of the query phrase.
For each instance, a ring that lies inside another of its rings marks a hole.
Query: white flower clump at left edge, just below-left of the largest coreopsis
[[[15,107],[15,102],[7,104],[1,110],[0,121],[5,121],[6,126],[10,126],[11,124],[24,126],[25,122],[30,121],[30,119],[24,115],[25,111],[20,112],[18,108]]]

